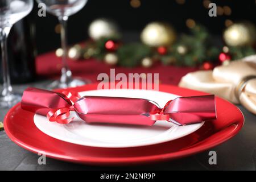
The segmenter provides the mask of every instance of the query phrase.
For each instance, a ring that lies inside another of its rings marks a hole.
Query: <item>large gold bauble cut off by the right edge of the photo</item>
[[[234,23],[224,31],[223,38],[228,46],[246,46],[255,42],[256,29],[250,22]]]

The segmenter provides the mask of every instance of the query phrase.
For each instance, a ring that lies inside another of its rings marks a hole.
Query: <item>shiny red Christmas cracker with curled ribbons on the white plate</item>
[[[154,101],[142,98],[84,96],[27,88],[22,96],[22,109],[47,115],[49,121],[69,123],[69,111],[87,123],[154,125],[166,120],[187,125],[216,119],[214,95],[178,97],[160,108]]]

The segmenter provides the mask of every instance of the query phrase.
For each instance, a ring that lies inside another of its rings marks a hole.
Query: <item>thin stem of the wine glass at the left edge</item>
[[[11,26],[0,27],[0,40],[2,49],[2,69],[3,69],[3,91],[2,96],[8,97],[12,94],[13,88],[11,87],[9,65],[7,58],[7,38],[9,36]]]

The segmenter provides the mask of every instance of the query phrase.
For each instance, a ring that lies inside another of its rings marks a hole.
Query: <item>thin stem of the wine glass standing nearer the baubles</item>
[[[63,49],[62,64],[60,82],[68,84],[68,81],[72,79],[72,72],[68,67],[67,55],[68,55],[68,45],[67,45],[67,21],[68,16],[60,16],[59,22],[61,26],[61,48]]]

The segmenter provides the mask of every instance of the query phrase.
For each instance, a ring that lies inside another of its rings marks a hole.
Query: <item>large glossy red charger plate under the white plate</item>
[[[97,89],[97,84],[67,90],[81,92],[94,89]],[[159,91],[179,96],[206,94],[170,85],[159,85]],[[144,147],[100,148],[63,142],[40,131],[34,124],[34,113],[22,110],[20,104],[6,114],[4,127],[13,142],[31,152],[43,151],[49,158],[85,164],[127,165],[182,158],[208,150],[232,138],[243,126],[243,114],[236,106],[218,97],[216,110],[217,119],[205,122],[194,133],[170,142]]]

